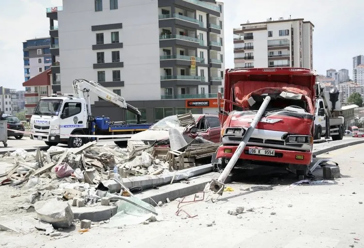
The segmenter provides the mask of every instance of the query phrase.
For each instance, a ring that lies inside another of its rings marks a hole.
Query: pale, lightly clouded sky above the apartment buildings
[[[364,54],[363,0],[222,0],[225,5],[226,68],[234,67],[233,28],[272,17],[304,18],[314,25],[314,70],[348,69],[352,57]],[[27,39],[49,36],[45,8],[62,0],[0,0],[0,86],[24,89],[23,44]],[[61,45],[61,44],[60,44]]]

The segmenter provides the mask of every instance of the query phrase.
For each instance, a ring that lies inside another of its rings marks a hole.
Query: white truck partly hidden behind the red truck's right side
[[[342,116],[340,92],[334,88],[324,91],[319,82],[316,83],[315,104],[315,140],[321,137],[342,140],[345,132],[345,120]]]

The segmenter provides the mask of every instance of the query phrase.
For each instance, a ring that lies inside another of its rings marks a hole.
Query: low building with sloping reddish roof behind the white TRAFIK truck
[[[43,73],[30,78],[23,83],[25,87],[25,110],[26,118],[30,118],[34,112],[34,108],[42,97],[47,97],[52,94],[51,88],[52,72],[48,68]]]

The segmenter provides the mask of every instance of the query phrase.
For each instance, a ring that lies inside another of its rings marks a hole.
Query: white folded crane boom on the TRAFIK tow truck
[[[134,113],[136,115],[136,119],[137,119],[136,122],[140,123],[141,114],[140,114],[140,111],[136,107],[133,107],[132,105],[126,103],[125,99],[123,97],[119,96],[118,94],[115,94],[111,90],[108,90],[107,88],[103,87],[99,83],[94,82],[94,81],[88,81],[85,79],[76,79],[73,81],[73,88],[74,88],[74,93],[75,93],[76,97],[85,98],[84,93],[87,93],[86,102],[87,102],[89,116],[92,116],[91,100],[90,100],[90,95],[89,95],[89,92],[91,91],[91,92],[95,93],[98,97],[104,99],[105,101],[111,102],[112,104],[114,104],[122,109],[126,109],[126,110]],[[81,95],[81,92],[82,92],[82,95]]]

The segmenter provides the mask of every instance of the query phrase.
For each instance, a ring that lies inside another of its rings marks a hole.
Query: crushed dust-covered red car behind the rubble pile
[[[168,116],[152,125],[148,130],[134,134],[130,140],[143,141],[145,144],[159,143],[160,146],[169,145],[168,130],[176,128],[191,138],[199,136],[214,143],[220,142],[221,127],[218,116],[195,114],[193,117],[196,122],[195,127],[189,129],[181,127],[177,116]]]

